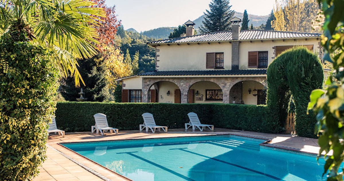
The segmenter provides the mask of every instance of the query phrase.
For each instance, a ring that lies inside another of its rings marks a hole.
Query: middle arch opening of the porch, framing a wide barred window
[[[220,86],[210,81],[196,82],[187,92],[187,103],[220,103],[223,93]]]

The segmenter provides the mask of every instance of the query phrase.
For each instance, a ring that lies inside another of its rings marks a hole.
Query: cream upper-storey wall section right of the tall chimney
[[[297,46],[297,45],[313,45],[313,52],[318,55],[319,48],[318,43],[320,40],[316,38],[305,39],[295,39],[294,40],[264,40],[261,41],[241,41],[239,44],[239,69],[257,69],[248,68],[248,52],[249,51],[268,51],[268,62],[272,62],[273,52],[275,51],[272,47],[274,46]]]

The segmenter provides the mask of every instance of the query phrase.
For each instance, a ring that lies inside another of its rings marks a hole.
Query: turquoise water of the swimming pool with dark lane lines
[[[134,181],[326,180],[324,160],[259,146],[264,141],[222,135],[63,145]]]

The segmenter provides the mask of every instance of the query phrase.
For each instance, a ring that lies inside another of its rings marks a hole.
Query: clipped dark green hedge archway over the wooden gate
[[[292,95],[296,133],[299,136],[316,137],[316,119],[313,114],[307,114],[307,105],[312,90],[321,88],[323,79],[324,73],[318,56],[307,48],[295,47],[278,56],[267,70],[269,116],[264,128],[270,128],[271,133],[282,131]]]

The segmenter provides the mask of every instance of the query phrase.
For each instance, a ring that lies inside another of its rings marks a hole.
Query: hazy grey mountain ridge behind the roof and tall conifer
[[[202,25],[202,21],[204,19],[204,14],[200,17],[198,17],[196,20],[194,20],[193,22],[196,24],[195,28],[198,29],[200,28],[200,26]],[[239,13],[239,12],[235,12],[234,16],[237,16],[240,19],[243,19],[244,13]],[[253,14],[248,14],[248,19],[250,20],[248,22],[249,26],[251,24],[253,24],[253,26],[260,26],[261,24],[265,24],[266,20],[268,19],[269,15],[265,15],[265,16],[258,16],[258,15],[253,15]]]

